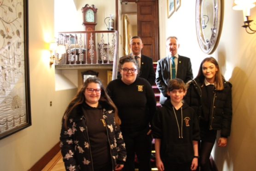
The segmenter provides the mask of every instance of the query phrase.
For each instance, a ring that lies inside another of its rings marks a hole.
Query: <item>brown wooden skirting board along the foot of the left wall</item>
[[[50,149],[40,160],[38,160],[35,165],[33,165],[29,171],[41,171],[51,160],[52,158],[58,154],[60,147],[58,142],[56,145]]]

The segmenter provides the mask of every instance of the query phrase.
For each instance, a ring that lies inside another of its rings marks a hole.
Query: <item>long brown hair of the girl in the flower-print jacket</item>
[[[82,103],[85,103],[85,95],[84,92],[87,88],[87,86],[90,83],[96,83],[99,84],[100,89],[101,89],[101,94],[100,94],[100,98],[99,98],[99,102],[105,102],[107,104],[109,104],[115,111],[115,120],[116,120],[116,125],[119,126],[121,125],[121,120],[118,117],[118,111],[116,108],[116,105],[113,103],[113,101],[111,100],[111,98],[109,97],[109,95],[107,94],[107,91],[105,90],[104,86],[102,85],[101,81],[99,80],[99,78],[97,77],[89,77],[87,78],[87,80],[83,83],[83,85],[81,86],[81,88],[77,91],[76,96],[71,100],[70,104],[68,105],[68,107],[66,108],[64,115],[63,115],[63,119],[64,119],[64,125],[65,128],[67,129],[67,122],[69,120],[69,116],[71,114],[71,112],[78,106],[81,105]]]

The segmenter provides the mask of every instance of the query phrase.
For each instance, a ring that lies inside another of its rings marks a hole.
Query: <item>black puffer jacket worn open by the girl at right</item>
[[[211,104],[209,115],[209,130],[221,130],[221,137],[230,135],[232,120],[232,96],[231,83],[223,80],[224,90],[215,90],[214,100]],[[202,91],[203,85],[199,79],[194,79],[189,83],[189,88],[185,97],[186,103],[194,108],[200,118],[202,116]]]

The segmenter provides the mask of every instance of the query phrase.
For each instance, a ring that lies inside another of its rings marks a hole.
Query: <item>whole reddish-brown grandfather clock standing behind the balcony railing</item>
[[[97,24],[97,8],[92,5],[86,4],[82,7],[83,25],[85,31],[95,31],[95,25]],[[91,38],[92,37],[92,38]],[[90,44],[91,40],[91,44]],[[87,63],[96,63],[96,49],[95,46],[95,34],[86,34],[85,44],[87,49]]]

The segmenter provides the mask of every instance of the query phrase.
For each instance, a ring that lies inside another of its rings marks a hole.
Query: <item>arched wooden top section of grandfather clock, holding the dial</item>
[[[83,25],[85,26],[85,31],[94,31],[95,25],[97,24],[97,8],[92,5],[86,4],[82,7],[83,13]]]

